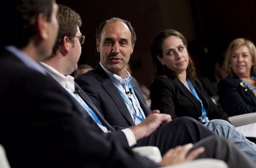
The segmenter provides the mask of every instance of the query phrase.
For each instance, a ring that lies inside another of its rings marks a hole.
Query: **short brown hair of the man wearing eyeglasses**
[[[76,35],[77,27],[81,27],[82,25],[81,17],[76,11],[62,4],[58,4],[58,7],[59,10],[57,18],[59,21],[59,33],[53,47],[53,54],[56,54],[64,36],[68,36],[73,42],[73,37]]]

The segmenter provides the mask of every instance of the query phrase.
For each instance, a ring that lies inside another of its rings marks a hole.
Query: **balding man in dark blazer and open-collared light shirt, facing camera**
[[[118,129],[118,127],[134,126],[136,124],[138,120],[132,114],[134,109],[136,111],[134,113],[142,113],[141,118],[147,117],[151,110],[145,103],[139,83],[125,70],[125,65],[129,61],[136,41],[134,29],[129,22],[124,21],[124,25],[127,24],[129,27],[123,29],[124,32],[122,33],[127,34],[124,34],[124,37],[119,37],[119,41],[112,37],[108,38],[108,34],[101,35],[102,32],[112,30],[111,27],[114,26],[117,27],[116,29],[122,30],[122,25],[118,27],[119,25],[111,25],[112,23],[122,23],[122,21],[118,21],[118,19],[108,23],[105,21],[97,30],[96,40],[97,50],[101,57],[100,63],[94,70],[78,76],[75,81],[89,95],[109,124]],[[111,32],[108,33],[111,34]],[[126,79],[124,79],[124,75],[126,75]],[[118,78],[123,79],[119,80]],[[116,83],[114,84],[113,81],[116,81]],[[122,83],[125,83],[125,86],[122,86]],[[128,83],[131,83],[131,86],[128,86]],[[132,89],[134,93],[128,93],[130,92],[129,89]],[[134,97],[131,102],[134,107],[125,103],[119,92],[121,90],[123,90],[124,96],[128,95],[127,100]],[[140,123],[140,121],[137,123]]]

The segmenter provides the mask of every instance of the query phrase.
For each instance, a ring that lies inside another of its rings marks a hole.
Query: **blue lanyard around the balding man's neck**
[[[133,116],[134,117],[136,117],[138,120],[140,120],[140,121],[143,121],[144,120],[144,117],[143,117],[143,115],[142,115],[142,113],[141,113],[141,110],[140,110],[140,107],[138,106],[138,99],[137,99],[137,97],[135,96],[135,93],[134,93],[134,90],[133,90],[133,88],[132,88],[132,85],[131,85],[131,83],[130,82],[128,82],[128,87],[129,88],[131,88],[131,90],[132,90],[132,95],[134,96],[134,99],[135,99],[135,103],[137,104],[137,107],[138,107],[138,109],[139,109],[139,111],[140,111],[140,116],[137,116],[137,113],[136,113],[136,110],[134,109],[134,107],[132,106],[132,104],[131,104],[131,102],[127,99],[127,97],[121,92],[121,90],[119,90],[118,89],[118,87],[115,85],[115,87],[116,87],[116,89],[118,90],[118,92],[119,92],[119,94],[122,96],[122,99],[124,99],[124,101],[131,107],[131,109],[132,109],[132,112],[133,112]]]

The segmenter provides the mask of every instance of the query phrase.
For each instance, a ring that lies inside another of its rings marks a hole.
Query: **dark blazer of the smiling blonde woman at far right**
[[[229,116],[256,112],[256,97],[240,78],[225,78],[218,84],[221,107]]]

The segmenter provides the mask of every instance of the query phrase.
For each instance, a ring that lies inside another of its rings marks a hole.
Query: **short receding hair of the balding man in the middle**
[[[124,19],[121,19],[121,18],[118,18],[118,17],[112,17],[111,19],[109,20],[105,20],[104,22],[101,23],[101,25],[99,26],[99,28],[96,29],[96,40],[98,41],[98,44],[101,42],[101,32],[104,28],[104,26],[107,24],[107,23],[110,23],[110,22],[115,22],[115,21],[121,21],[121,22],[124,22],[129,30],[131,31],[131,34],[132,34],[132,45],[135,44],[136,42],[136,33],[134,31],[134,28],[132,27],[131,23],[127,20],[124,20]]]

